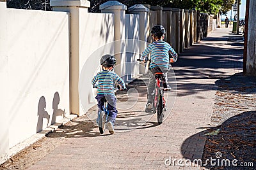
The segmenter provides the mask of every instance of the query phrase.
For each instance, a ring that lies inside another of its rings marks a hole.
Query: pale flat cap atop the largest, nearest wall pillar
[[[90,8],[91,3],[87,0],[51,0],[51,6],[80,6]]]

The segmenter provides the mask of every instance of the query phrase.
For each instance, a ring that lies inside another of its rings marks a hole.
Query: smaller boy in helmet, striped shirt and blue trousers
[[[92,80],[93,87],[98,89],[95,99],[98,101],[99,112],[104,110],[105,99],[108,101],[108,127],[111,134],[115,133],[114,124],[118,113],[116,110],[115,83],[120,85],[120,90],[126,89],[124,80],[113,71],[115,64],[116,59],[113,55],[103,55],[100,59],[102,71],[97,73]],[[99,114],[97,120],[99,120]]]

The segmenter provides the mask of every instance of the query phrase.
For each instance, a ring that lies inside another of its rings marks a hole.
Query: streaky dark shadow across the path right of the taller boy
[[[173,69],[177,89],[184,92],[178,92],[177,96],[188,96],[212,89],[213,86],[207,83],[207,79],[227,76],[225,69],[243,69],[243,47],[236,42],[228,42],[228,38],[205,38],[204,43],[196,43],[179,55]],[[227,41],[228,45],[218,41]],[[204,83],[192,83],[192,79],[200,79]]]

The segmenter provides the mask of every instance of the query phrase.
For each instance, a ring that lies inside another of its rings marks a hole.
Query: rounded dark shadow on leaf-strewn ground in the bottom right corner
[[[208,169],[255,169],[255,129],[256,111],[246,111],[228,118],[221,125],[209,127],[209,129],[189,137],[182,143],[181,152],[185,159],[189,159],[191,162],[202,160],[203,166]],[[204,148],[202,146],[204,146],[205,140],[205,149],[202,155],[202,148]],[[212,164],[209,160],[212,160]],[[248,166],[242,167],[243,164]]]

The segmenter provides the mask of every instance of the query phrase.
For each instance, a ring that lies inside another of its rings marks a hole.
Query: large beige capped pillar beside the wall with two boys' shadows
[[[87,13],[90,2],[86,0],[51,0],[53,11],[70,13],[70,111],[79,115],[79,18]]]

